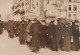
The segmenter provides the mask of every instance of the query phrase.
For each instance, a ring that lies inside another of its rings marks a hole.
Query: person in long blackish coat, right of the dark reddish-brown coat
[[[54,21],[51,21],[48,28],[48,46],[51,50],[56,51],[57,50],[57,42],[56,42],[56,36],[55,36],[55,25]],[[56,33],[57,34],[57,33]]]

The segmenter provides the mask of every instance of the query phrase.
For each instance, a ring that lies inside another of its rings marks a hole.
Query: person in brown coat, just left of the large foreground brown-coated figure
[[[19,27],[18,27],[18,30],[17,30],[17,34],[19,36],[19,41],[20,41],[20,44],[25,44],[25,40],[26,40],[26,27],[27,27],[27,21],[24,21],[22,20],[20,23],[19,23]]]

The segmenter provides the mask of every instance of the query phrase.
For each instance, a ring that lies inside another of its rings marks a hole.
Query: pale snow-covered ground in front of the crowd
[[[20,45],[18,37],[8,37],[7,31],[0,35],[0,55],[80,55],[78,51],[51,51],[47,48],[40,49],[39,53],[33,53],[26,45]]]

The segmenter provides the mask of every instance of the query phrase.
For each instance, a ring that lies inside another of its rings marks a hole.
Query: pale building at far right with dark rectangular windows
[[[80,0],[67,0],[67,18],[76,20],[80,18]]]

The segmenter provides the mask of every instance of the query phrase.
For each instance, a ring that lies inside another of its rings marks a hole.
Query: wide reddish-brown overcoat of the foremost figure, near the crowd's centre
[[[31,24],[30,36],[32,36],[31,41],[30,41],[30,46],[40,48],[40,32],[39,32],[38,23]]]

